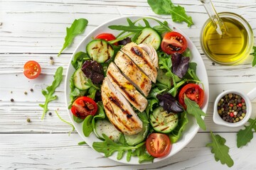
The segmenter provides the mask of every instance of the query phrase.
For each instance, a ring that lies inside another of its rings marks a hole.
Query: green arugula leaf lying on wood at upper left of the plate
[[[88,24],[87,19],[80,18],[78,20],[75,19],[75,21],[73,21],[70,28],[66,28],[65,42],[63,44],[62,49],[58,53],[58,56],[60,56],[61,52],[63,52],[63,50],[73,42],[73,39],[75,38],[76,35],[83,33],[85,31],[87,24]]]

